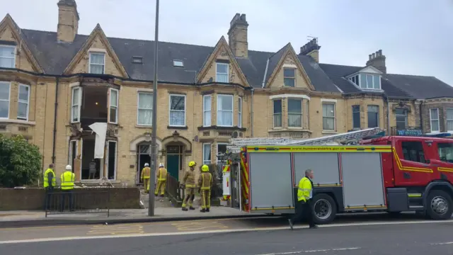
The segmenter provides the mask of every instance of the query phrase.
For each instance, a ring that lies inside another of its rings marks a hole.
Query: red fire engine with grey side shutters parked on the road
[[[230,152],[239,154],[235,199],[240,210],[294,213],[299,180],[312,169],[317,224],[347,212],[415,211],[449,219],[453,140],[382,134],[370,128],[309,140],[231,139]]]

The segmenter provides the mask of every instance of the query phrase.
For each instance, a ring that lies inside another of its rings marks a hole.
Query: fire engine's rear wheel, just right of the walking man
[[[333,221],[337,214],[336,203],[331,196],[319,194],[313,198],[313,216],[316,224],[327,224]]]

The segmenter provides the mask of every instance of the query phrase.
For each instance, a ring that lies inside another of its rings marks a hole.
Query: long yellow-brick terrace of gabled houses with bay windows
[[[57,33],[21,29],[9,15],[0,23],[0,133],[23,135],[40,147],[43,169],[55,162],[61,173],[71,164],[81,181],[138,183],[153,114],[159,162],[177,179],[190,160],[216,162],[233,133],[453,130],[453,88],[435,77],[387,74],[382,50],[363,67],[319,64],[316,40],[299,53],[289,43],[276,52],[248,50],[248,23],[239,13],[229,41],[222,37],[214,47],[159,42],[154,111],[154,42],[108,38],[99,25],[80,35],[76,2],[57,6]],[[93,123],[106,126],[99,159]]]

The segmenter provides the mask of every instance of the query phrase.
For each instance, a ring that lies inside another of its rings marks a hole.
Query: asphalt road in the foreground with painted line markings
[[[2,254],[453,254],[453,220],[403,215],[340,217],[331,225],[289,230],[287,220],[147,222],[1,229]],[[102,240],[101,240],[102,239]]]

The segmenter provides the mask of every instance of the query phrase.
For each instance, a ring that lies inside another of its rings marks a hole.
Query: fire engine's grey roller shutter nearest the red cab
[[[384,209],[381,153],[342,153],[341,166],[345,210]]]

